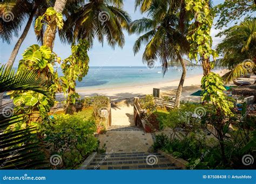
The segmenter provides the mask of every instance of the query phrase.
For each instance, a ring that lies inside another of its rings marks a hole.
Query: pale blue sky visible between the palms
[[[224,0],[213,0],[213,4],[217,5],[223,3]],[[124,10],[130,13],[132,20],[140,19],[145,17],[146,15],[142,15],[139,11],[134,11],[134,0],[125,0],[124,1]],[[216,19],[216,18],[215,18]],[[22,30],[24,27],[22,27]],[[220,32],[220,30],[214,29],[214,26],[211,30],[211,36],[213,37],[213,48],[220,43],[223,38],[216,38],[215,35]],[[21,32],[20,32],[21,33]],[[104,43],[99,44],[98,41],[95,39],[93,48],[88,51],[88,55],[90,58],[90,66],[143,66],[142,63],[142,55],[145,47],[140,49],[140,52],[137,53],[135,56],[133,54],[133,44],[138,38],[137,34],[129,35],[127,32],[125,34],[125,46],[123,49],[116,47],[115,49],[111,48]],[[55,44],[53,51],[62,59],[68,58],[71,54],[70,45],[62,44],[59,40],[58,34],[56,34]],[[0,46],[0,63],[4,64],[8,61],[10,53],[14,48],[16,42],[16,37],[12,39],[11,44],[2,43]],[[33,31],[33,26],[31,26],[28,36],[24,40],[21,48],[19,49],[19,53],[14,63],[14,67],[18,66],[18,61],[22,59],[22,53],[26,48],[30,45],[39,44],[36,40],[35,32]]]

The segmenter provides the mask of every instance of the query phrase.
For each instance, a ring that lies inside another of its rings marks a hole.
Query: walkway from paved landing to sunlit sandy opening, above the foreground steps
[[[134,125],[133,102],[122,101],[111,105],[112,124],[99,135],[100,147],[106,152],[148,152],[153,144],[151,133]]]

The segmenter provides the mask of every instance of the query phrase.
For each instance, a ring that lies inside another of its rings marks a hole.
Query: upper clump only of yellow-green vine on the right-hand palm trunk
[[[186,10],[189,12],[190,25],[187,40],[190,42],[189,58],[196,60],[200,58],[204,69],[204,75],[210,73],[213,65],[210,63],[210,56],[213,59],[218,56],[212,49],[212,37],[210,35],[214,13],[210,10],[209,1],[185,0]]]

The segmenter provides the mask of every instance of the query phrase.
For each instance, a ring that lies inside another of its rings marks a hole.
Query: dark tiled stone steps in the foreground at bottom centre
[[[97,154],[86,169],[181,169],[160,153]]]

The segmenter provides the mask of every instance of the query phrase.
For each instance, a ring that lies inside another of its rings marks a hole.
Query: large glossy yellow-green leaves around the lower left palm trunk
[[[55,103],[55,92],[60,88],[58,74],[54,71],[55,62],[60,59],[53,54],[49,47],[32,45],[22,54],[19,61],[19,70],[26,69],[45,76],[48,91],[51,95],[45,96],[36,91],[12,91],[10,94],[16,105],[15,111],[25,112],[28,123],[40,122],[47,117],[47,113]]]

